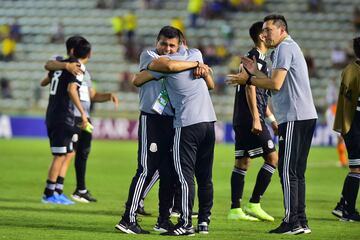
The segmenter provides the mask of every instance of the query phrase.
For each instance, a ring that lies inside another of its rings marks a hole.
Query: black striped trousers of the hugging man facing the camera
[[[174,138],[173,117],[141,113],[138,130],[138,166],[129,189],[123,218],[136,221],[136,210],[146,186],[159,170],[159,213],[169,218],[173,200],[174,166],[172,146]]]

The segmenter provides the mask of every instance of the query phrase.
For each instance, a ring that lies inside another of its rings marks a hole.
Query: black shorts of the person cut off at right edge
[[[348,152],[349,167],[360,167],[360,112],[355,113],[351,128],[343,137]]]

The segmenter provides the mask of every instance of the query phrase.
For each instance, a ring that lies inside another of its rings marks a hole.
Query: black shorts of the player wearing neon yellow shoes
[[[256,158],[276,151],[275,144],[265,123],[261,122],[261,127],[262,132],[255,135],[251,132],[252,124],[234,126],[236,159],[243,157]]]

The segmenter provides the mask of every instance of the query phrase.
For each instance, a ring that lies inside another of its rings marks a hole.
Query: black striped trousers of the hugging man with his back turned
[[[194,175],[198,185],[198,222],[210,222],[214,191],[212,183],[214,145],[213,122],[175,128],[174,165],[181,185],[180,222],[184,226],[192,225],[191,213],[195,198]]]

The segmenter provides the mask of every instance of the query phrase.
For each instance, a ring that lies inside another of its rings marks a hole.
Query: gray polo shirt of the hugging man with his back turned
[[[203,62],[202,54],[198,49],[181,47],[178,53],[168,57],[172,60]],[[166,79],[166,90],[175,109],[174,127],[216,121],[206,82],[203,78],[195,79],[192,69],[171,74],[151,71],[151,74],[157,79],[162,77]]]

